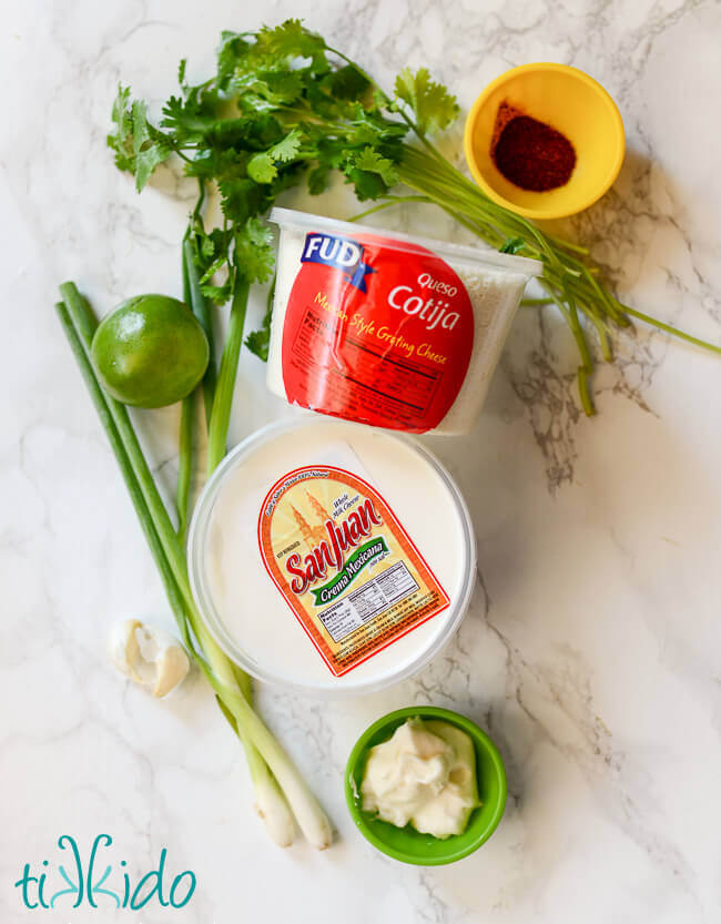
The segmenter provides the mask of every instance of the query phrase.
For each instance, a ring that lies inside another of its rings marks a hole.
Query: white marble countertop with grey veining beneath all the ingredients
[[[338,830],[283,852],[251,812],[245,761],[195,676],[166,702],[109,667],[109,627],[169,619],[115,464],[52,312],[74,278],[99,311],[179,292],[187,200],[138,197],[104,146],[120,79],[160,100],[177,61],[205,73],[222,29],[302,16],[390,83],[427,64],[467,108],[527,61],[588,70],[621,109],[613,191],[575,222],[642,311],[721,339],[721,7],[714,2],[40,0],[0,38],[0,916],[77,924],[256,920],[699,924],[721,920],[721,362],[639,329],[579,414],[554,312],[519,315],[476,433],[428,440],[471,509],[478,587],[455,642],[416,679],[358,701],[273,690],[260,707]],[[182,189],[181,189],[182,193]],[[407,223],[413,216],[399,220]],[[425,214],[437,236],[451,233]],[[261,314],[254,303],[253,319]],[[237,440],[288,410],[244,355]],[[151,450],[172,484],[174,410]],[[437,870],[354,831],[341,778],[375,718],[431,702],[475,718],[507,764],[491,840]],[[112,834],[135,874],[167,847],[186,907],[27,911],[26,862]]]

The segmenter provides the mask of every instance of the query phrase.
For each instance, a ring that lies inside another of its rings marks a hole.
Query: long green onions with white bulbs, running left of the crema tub
[[[60,292],[63,301],[55,306],[60,321],[120,466],[183,642],[245,747],[256,808],[271,835],[285,845],[293,834],[290,805],[306,839],[314,846],[324,849],[333,839],[328,819],[293,762],[253,710],[250,679],[235,668],[207,632],[190,589],[183,544],[160,497],[128,409],[103,392],[95,376],[90,347],[97,319],[73,283],[64,283]]]

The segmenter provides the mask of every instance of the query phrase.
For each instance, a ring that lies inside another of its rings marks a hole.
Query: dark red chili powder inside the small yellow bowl
[[[566,135],[506,102],[498,106],[490,153],[506,180],[538,193],[563,186],[576,166]]]

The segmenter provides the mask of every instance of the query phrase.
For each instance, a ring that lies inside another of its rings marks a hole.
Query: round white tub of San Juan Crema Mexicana
[[[453,637],[476,548],[453,479],[410,437],[303,415],[215,470],[189,536],[191,587],[236,664],[354,695],[418,671]]]

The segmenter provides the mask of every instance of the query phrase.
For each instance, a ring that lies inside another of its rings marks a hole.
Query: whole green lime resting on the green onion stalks
[[[136,295],[102,319],[91,355],[113,398],[136,407],[164,407],[197,385],[209,348],[203,328],[183,302]]]

